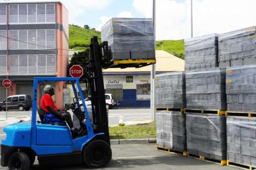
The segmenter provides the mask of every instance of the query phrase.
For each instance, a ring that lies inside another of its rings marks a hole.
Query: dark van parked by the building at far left
[[[29,95],[14,95],[7,97],[7,109],[18,109],[28,111],[32,107],[32,98]],[[0,102],[0,111],[6,109],[6,99]]]

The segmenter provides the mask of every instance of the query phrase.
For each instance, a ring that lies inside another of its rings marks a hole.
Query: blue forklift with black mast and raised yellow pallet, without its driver
[[[85,68],[87,96],[90,96],[92,101],[93,123],[88,115],[78,78],[34,78],[31,123],[10,124],[4,128],[7,136],[1,142],[1,166],[8,166],[9,170],[29,170],[36,156],[40,166],[84,163],[89,168],[101,168],[108,165],[112,158],[112,151],[102,68],[140,68],[154,63],[155,60],[113,61],[108,42],[99,44],[98,38],[93,37]],[[67,125],[43,124],[36,120],[39,84],[56,82],[72,84],[75,94],[74,102],[66,110],[72,110],[81,128],[86,132],[77,138],[72,138]],[[84,110],[81,110],[77,89]]]

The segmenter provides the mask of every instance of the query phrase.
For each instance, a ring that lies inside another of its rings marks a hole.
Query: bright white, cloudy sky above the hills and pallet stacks
[[[79,26],[87,24],[99,31],[111,17],[152,17],[152,0],[61,0],[61,2],[69,11],[70,24]],[[190,0],[156,0],[156,39],[189,38],[190,12]],[[256,26],[256,0],[193,0],[194,37],[251,26]]]

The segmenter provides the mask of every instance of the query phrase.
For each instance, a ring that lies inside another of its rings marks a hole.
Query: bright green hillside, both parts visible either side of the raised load
[[[69,25],[69,48],[74,50],[85,50],[91,37],[98,36],[101,40],[101,32],[95,29],[86,29],[77,25]],[[181,59],[184,59],[184,40],[162,40],[156,41],[156,50],[169,52]]]

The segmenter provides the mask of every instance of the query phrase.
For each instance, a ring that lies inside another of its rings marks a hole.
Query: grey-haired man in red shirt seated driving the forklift
[[[47,85],[44,87],[43,91],[45,94],[43,95],[40,101],[41,109],[44,110],[46,114],[52,113],[57,118],[66,121],[68,123],[69,128],[71,129],[72,134],[78,133],[78,129],[74,128],[70,113],[65,111],[64,109],[58,109],[55,106],[54,101],[52,99],[52,96],[55,94],[54,88],[50,85]]]

